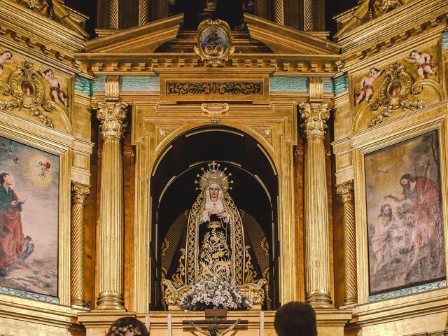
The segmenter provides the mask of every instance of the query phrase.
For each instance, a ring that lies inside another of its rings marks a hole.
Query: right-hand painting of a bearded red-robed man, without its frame
[[[437,131],[365,155],[370,294],[445,277]]]

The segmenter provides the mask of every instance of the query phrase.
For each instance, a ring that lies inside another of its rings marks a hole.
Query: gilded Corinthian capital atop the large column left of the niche
[[[126,130],[127,104],[123,102],[99,102],[97,118],[101,122],[101,135],[106,137],[123,137]]]

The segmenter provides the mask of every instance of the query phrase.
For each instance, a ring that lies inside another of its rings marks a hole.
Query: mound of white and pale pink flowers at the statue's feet
[[[181,298],[181,309],[204,310],[210,308],[247,310],[252,307],[251,297],[246,297],[235,284],[219,278],[202,279],[195,283]]]

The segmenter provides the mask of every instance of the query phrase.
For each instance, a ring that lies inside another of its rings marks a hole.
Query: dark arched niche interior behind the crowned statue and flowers
[[[200,193],[195,180],[201,168],[208,169],[207,164],[213,160],[232,173],[230,179],[234,183],[230,195],[241,211],[253,253],[260,255],[265,251],[263,247],[268,246],[267,258],[260,262],[258,272],[259,276],[263,272],[269,274],[269,301],[265,308],[274,309],[279,302],[278,179],[272,161],[258,141],[230,127],[190,130],[166,148],[151,177],[151,207],[155,214],[151,216],[152,309],[163,309],[160,280],[170,272],[170,267],[176,269],[179,264],[176,253],[181,246],[188,211]],[[262,240],[267,244],[262,244]]]

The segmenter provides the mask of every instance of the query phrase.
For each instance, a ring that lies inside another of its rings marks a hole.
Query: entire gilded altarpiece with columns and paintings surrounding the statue
[[[444,335],[447,5],[360,1],[334,42],[281,10],[89,40],[60,1],[3,0],[0,182],[23,197],[6,212],[20,204],[25,243],[5,261],[18,234],[2,233],[0,334],[104,335],[136,316],[193,335],[182,321],[204,313],[176,306],[215,183],[239,237],[230,274],[256,301],[229,312],[248,320],[237,335],[276,335],[293,300],[319,335]]]

